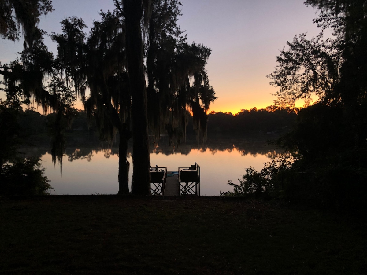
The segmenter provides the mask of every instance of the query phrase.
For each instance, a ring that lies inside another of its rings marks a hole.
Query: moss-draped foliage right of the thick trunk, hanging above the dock
[[[205,70],[211,50],[188,44],[182,36],[177,25],[179,4],[176,0],[152,1],[146,62],[149,126],[155,137],[166,129],[171,142],[174,135],[185,139],[189,111],[197,134],[205,136],[206,112],[216,99]]]

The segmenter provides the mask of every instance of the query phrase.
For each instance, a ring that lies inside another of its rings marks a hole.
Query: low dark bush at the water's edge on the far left
[[[1,195],[48,195],[50,180],[44,176],[40,158],[29,158],[6,164],[0,173]]]

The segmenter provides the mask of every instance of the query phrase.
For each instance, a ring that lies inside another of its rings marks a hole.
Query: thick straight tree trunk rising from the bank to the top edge
[[[143,70],[143,41],[141,0],[124,0],[126,15],[127,71],[131,91],[132,116],[132,183],[131,193],[148,195],[150,192],[150,157],[148,142],[147,95]]]

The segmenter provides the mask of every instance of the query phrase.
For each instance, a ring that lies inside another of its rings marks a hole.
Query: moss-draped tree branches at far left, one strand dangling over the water
[[[44,45],[44,31],[37,25],[41,14],[52,11],[51,1],[1,1],[0,3],[1,35],[10,40],[19,39],[20,30],[25,37],[24,49],[19,59],[0,66],[3,81],[0,88],[6,94],[6,102],[15,109],[21,104],[30,104],[32,101],[41,106],[43,111],[52,110],[59,117],[73,115],[73,96],[65,79],[61,77],[59,64],[53,54]],[[47,78],[46,78],[47,76]],[[60,120],[55,120],[57,123]],[[62,162],[64,140],[59,125],[52,142],[53,151],[60,153],[54,159]],[[60,146],[56,148],[55,146]]]

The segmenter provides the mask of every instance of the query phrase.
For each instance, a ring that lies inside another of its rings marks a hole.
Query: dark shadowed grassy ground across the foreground
[[[367,274],[364,225],[249,199],[0,198],[0,274]]]

